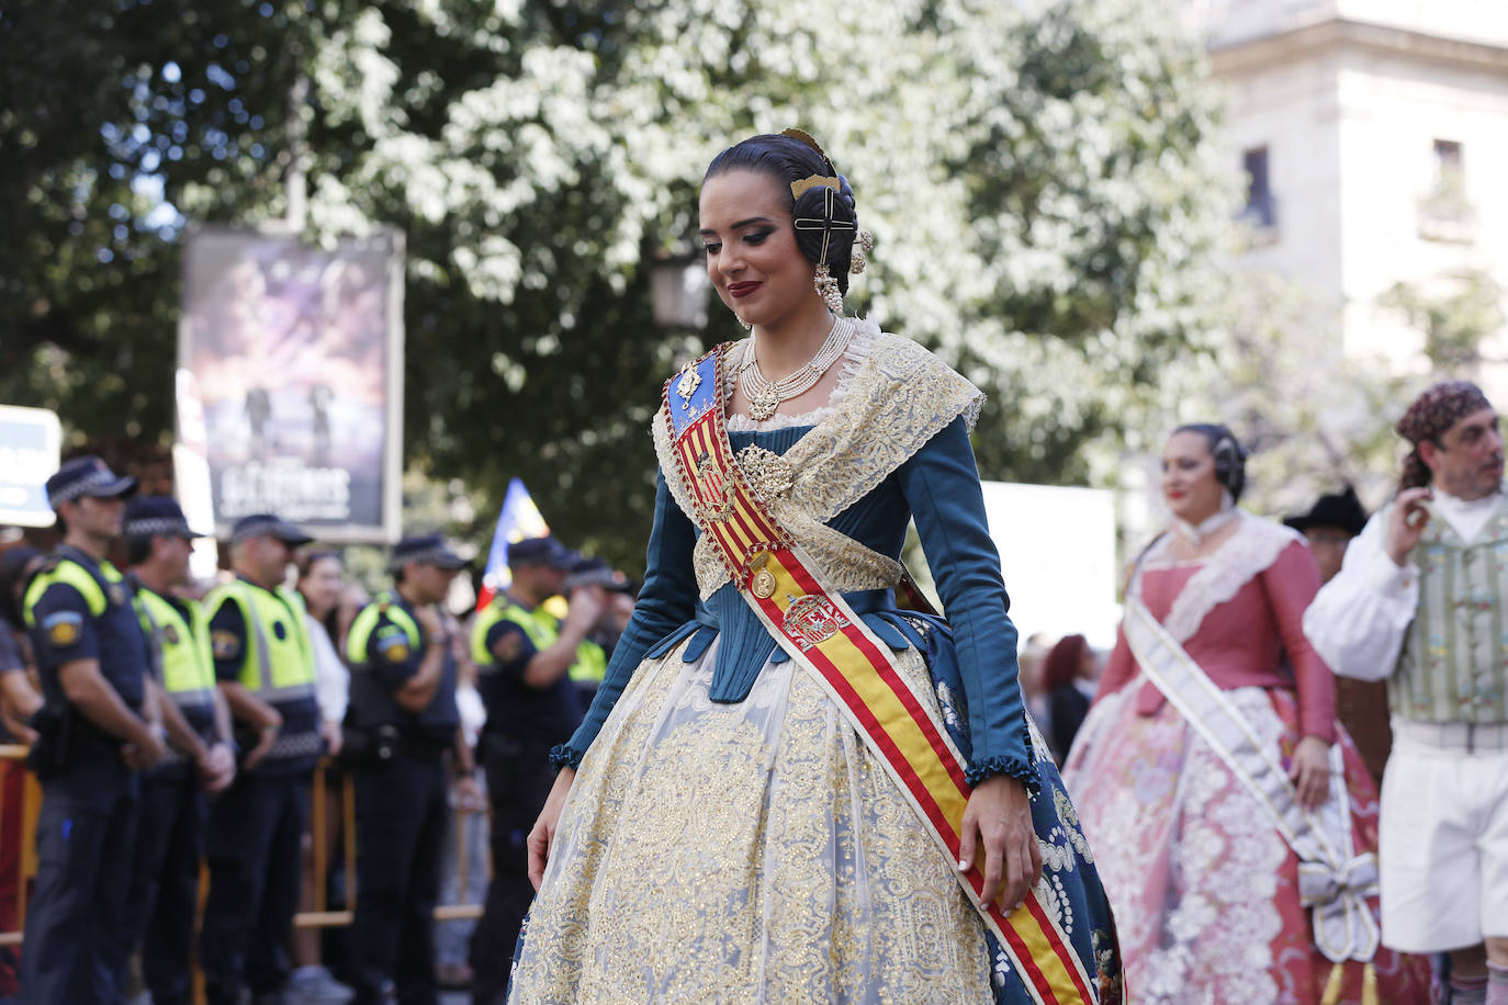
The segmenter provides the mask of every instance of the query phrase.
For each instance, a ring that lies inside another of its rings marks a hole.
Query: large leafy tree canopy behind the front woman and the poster
[[[477,538],[517,475],[562,536],[633,568],[659,384],[739,334],[718,307],[697,339],[656,325],[647,264],[694,253],[718,149],[801,125],[879,241],[852,309],[991,395],[986,476],[1081,481],[1218,327],[1231,202],[1200,50],[1173,23],[1160,0],[811,0],[799,18],[771,0],[21,0],[0,12],[0,80],[24,95],[0,145],[29,151],[0,172],[18,235],[0,324],[20,333],[0,396],[163,443],[182,226],[282,215],[296,166],[311,240],[407,235],[410,464],[469,487]]]

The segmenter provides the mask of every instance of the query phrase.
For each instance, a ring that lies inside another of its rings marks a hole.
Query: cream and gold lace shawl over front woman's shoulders
[[[893,588],[900,582],[900,564],[828,527],[826,521],[878,488],[959,416],[973,429],[985,396],[942,360],[911,339],[881,331],[873,321],[857,322],[840,365],[844,369],[828,405],[793,416],[801,425],[813,422],[795,446],[784,455],[748,446],[739,451],[737,463],[771,514],[801,541],[835,589]],[[695,523],[691,491],[671,452],[670,416],[664,407],[653,432],[671,496]],[[703,600],[728,582],[728,571],[706,535],[697,539],[694,565]]]

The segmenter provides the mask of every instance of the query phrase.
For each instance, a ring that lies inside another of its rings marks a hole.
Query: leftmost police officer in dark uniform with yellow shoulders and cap
[[[116,930],[131,874],[137,770],[164,753],[146,637],[106,561],[134,478],[97,457],[47,479],[63,542],[32,580],[24,619],[42,683],[32,767],[42,780],[38,871],[21,954],[23,1000],[116,1000]]]

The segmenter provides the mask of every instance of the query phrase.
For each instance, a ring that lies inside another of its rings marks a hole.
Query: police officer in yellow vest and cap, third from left
[[[210,649],[241,749],[235,784],[210,808],[210,897],[199,966],[210,1005],[284,1000],[299,907],[309,784],[324,752],[303,601],[284,585],[309,535],[273,514],[231,529],[235,579],[205,598]]]

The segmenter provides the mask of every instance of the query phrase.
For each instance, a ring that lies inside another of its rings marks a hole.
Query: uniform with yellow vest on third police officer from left
[[[250,520],[250,518],[247,518]],[[243,681],[247,646],[256,636],[241,607],[217,588],[205,600],[216,677]],[[262,631],[287,640],[305,633],[302,606],[282,592],[265,591],[241,577],[229,589],[250,591],[253,603],[276,610]],[[256,594],[261,591],[261,594]],[[244,981],[253,1000],[280,994],[291,973],[288,942],[299,909],[303,880],[303,832],[309,817],[309,787],[323,755],[318,734],[320,710],[314,696],[312,652],[300,693],[268,704],[284,719],[271,755],[255,768],[244,765],[235,782],[210,808],[205,857],[210,865],[210,895],[199,933],[199,967],[210,1005],[240,1000]],[[262,696],[264,701],[267,696]],[[238,738],[243,755],[255,737]]]

